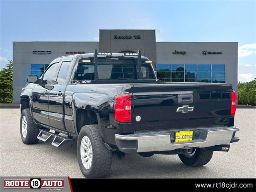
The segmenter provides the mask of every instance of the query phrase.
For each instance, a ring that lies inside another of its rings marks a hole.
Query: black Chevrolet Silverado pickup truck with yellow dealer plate
[[[20,95],[25,144],[77,138],[87,178],[110,173],[112,155],[178,154],[202,166],[213,151],[237,142],[236,93],[229,83],[168,83],[138,53],[77,54],[56,58]]]

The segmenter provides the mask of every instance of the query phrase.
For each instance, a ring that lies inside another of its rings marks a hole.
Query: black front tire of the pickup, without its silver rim
[[[26,118],[26,137],[22,134],[22,118],[25,116]],[[24,109],[22,110],[21,116],[20,116],[20,136],[22,139],[22,142],[24,144],[36,144],[38,143],[38,138],[36,138],[39,134],[39,128],[36,126],[33,122],[32,116],[30,114],[30,109]]]

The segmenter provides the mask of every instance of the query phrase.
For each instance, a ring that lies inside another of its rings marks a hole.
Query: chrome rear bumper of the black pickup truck
[[[115,140],[119,150],[125,153],[171,151],[185,146],[205,148],[239,140],[238,137],[235,137],[235,132],[239,131],[238,126],[189,128],[186,130],[194,131],[194,134],[199,131],[200,136],[192,141],[174,142],[175,132],[182,130],[164,130],[128,135],[115,134]]]

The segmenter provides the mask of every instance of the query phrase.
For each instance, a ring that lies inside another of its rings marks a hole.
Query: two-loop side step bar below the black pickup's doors
[[[46,142],[49,138],[54,136],[52,145],[56,146],[56,147],[62,146],[66,140],[72,140],[71,138],[64,137],[64,136],[46,131],[44,129],[39,129],[39,130],[40,130],[40,132],[39,132],[37,138],[43,142]]]

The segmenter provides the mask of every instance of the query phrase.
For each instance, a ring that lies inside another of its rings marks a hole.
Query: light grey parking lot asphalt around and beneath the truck
[[[19,109],[0,109],[0,176],[70,176],[84,178],[76,157],[76,139],[56,148],[51,141],[25,145],[20,138]],[[236,136],[229,152],[214,152],[201,167],[184,165],[178,155],[113,157],[108,178],[256,178],[256,109],[237,109]]]

